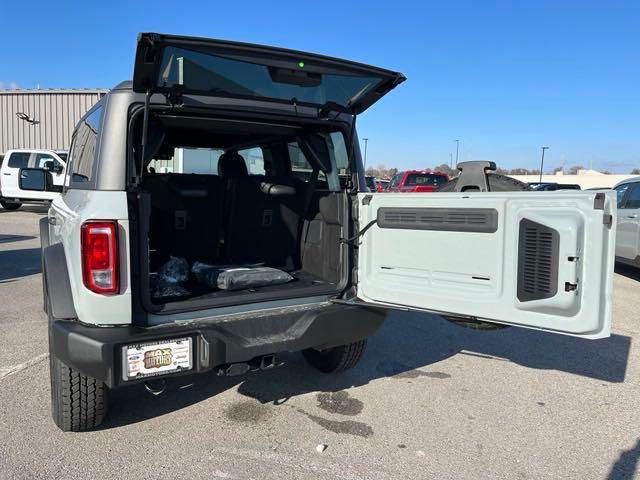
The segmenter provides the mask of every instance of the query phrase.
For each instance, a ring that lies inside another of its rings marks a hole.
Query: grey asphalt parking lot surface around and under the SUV
[[[100,430],[62,433],[49,415],[44,213],[0,208],[0,478],[640,478],[640,272],[626,268],[606,340],[394,314],[342,375],[289,354],[160,397],[117,391]]]

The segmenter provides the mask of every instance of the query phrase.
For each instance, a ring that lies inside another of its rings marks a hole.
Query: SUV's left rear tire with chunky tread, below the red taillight
[[[51,416],[63,432],[81,432],[102,423],[109,410],[109,389],[95,378],[65,365],[51,351],[51,305],[49,311],[49,374]]]

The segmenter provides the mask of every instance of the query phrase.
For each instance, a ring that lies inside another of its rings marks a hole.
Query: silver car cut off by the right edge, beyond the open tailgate
[[[616,260],[640,267],[640,177],[618,183]]]

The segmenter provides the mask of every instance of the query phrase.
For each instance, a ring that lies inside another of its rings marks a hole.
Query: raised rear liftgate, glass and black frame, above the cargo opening
[[[359,114],[404,79],[398,72],[284,48],[143,33],[138,37],[133,89]]]

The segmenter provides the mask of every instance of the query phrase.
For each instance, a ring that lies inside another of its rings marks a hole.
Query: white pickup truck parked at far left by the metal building
[[[62,191],[66,170],[66,152],[53,150],[9,150],[0,166],[0,204],[7,210],[17,210],[23,202],[51,201]],[[46,169],[51,186],[47,191],[20,188],[21,168]]]

